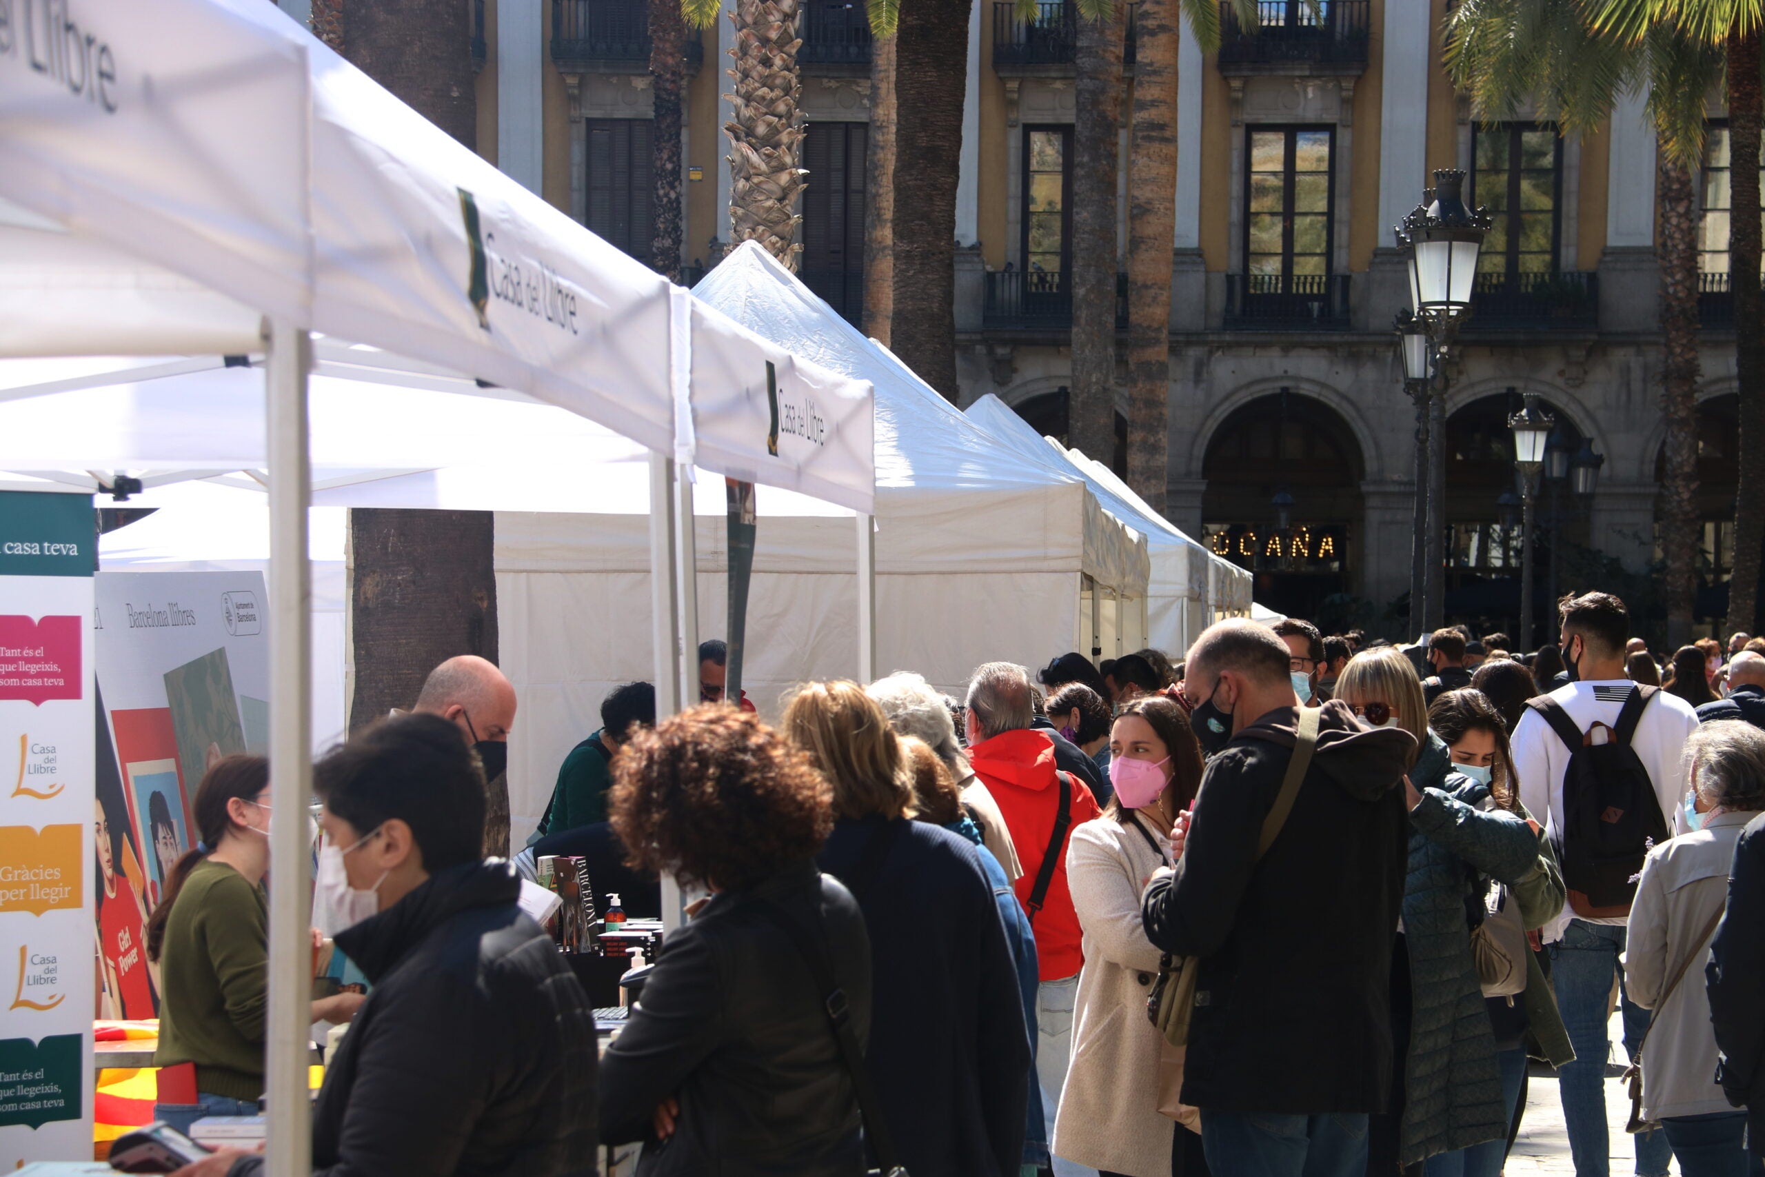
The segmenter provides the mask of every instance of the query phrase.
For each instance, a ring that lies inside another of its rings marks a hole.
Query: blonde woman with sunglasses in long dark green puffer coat
[[[1507,1136],[1495,1029],[1483,1004],[1467,912],[1486,881],[1514,886],[1539,856],[1532,828],[1497,806],[1490,785],[1454,771],[1446,743],[1428,729],[1423,685],[1398,649],[1356,655],[1336,699],[1371,727],[1401,727],[1417,755],[1403,778],[1410,806],[1410,861],[1403,918],[1391,955],[1391,1031],[1403,1059],[1391,1112],[1371,1117],[1370,1173],[1394,1172]]]

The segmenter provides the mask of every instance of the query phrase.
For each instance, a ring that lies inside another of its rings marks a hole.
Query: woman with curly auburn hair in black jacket
[[[826,778],[754,715],[708,704],[635,734],[614,761],[612,828],[632,866],[711,889],[600,1062],[609,1143],[644,1142],[644,1177],[863,1177],[858,1101],[787,925],[819,932],[851,1025],[870,1031],[870,939],[815,870]]]

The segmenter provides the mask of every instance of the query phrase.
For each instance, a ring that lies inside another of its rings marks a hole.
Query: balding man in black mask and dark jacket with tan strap
[[[1347,1177],[1366,1170],[1366,1117],[1391,1096],[1391,946],[1416,741],[1324,704],[1311,766],[1258,861],[1299,718],[1288,656],[1244,619],[1190,649],[1195,731],[1218,720],[1225,746],[1202,778],[1193,836],[1179,817],[1177,868],[1154,875],[1142,916],[1158,948],[1200,958],[1183,1101],[1202,1108],[1209,1168]]]

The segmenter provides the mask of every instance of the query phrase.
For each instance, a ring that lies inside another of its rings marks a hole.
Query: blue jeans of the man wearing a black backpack
[[[1611,997],[1611,979],[1617,978],[1620,985],[1624,981],[1624,969],[1619,967],[1622,951],[1622,926],[1583,919],[1571,919],[1562,939],[1550,946],[1557,1011],[1574,1046],[1574,1062],[1558,1071],[1558,1089],[1576,1177],[1610,1177],[1606,1055],[1611,1041],[1606,1036],[1606,1002]],[[1627,1059],[1649,1029],[1649,1011],[1631,1004],[1622,990],[1620,1002]],[[1638,1177],[1666,1177],[1668,1159],[1673,1156],[1666,1133],[1638,1133],[1634,1140]]]

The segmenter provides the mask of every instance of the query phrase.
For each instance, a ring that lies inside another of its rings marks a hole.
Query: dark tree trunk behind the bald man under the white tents
[[[494,515],[452,510],[349,512],[349,729],[409,708],[447,658],[496,662]],[[485,854],[508,854],[508,780],[491,782]]]

